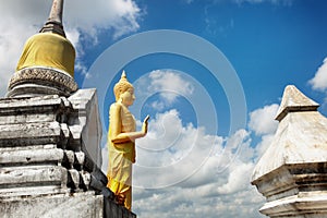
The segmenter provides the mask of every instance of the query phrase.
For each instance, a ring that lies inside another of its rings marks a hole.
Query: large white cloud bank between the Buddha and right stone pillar
[[[222,138],[183,124],[177,110],[158,113],[136,141],[133,211],[140,218],[261,217],[250,142],[245,130]]]

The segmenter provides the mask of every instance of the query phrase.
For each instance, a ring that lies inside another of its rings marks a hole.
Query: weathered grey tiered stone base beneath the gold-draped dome
[[[0,99],[0,217],[136,218],[101,166],[95,89]]]

